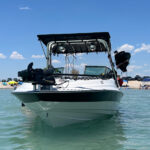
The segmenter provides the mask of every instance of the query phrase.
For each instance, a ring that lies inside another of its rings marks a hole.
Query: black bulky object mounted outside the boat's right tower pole
[[[121,52],[115,51],[114,53],[117,68],[119,68],[122,72],[126,72],[127,66],[129,65],[131,54],[125,51]]]

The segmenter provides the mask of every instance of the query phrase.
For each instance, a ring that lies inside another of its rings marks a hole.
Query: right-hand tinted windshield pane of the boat
[[[85,75],[106,75],[111,71],[110,68],[106,66],[85,66]]]

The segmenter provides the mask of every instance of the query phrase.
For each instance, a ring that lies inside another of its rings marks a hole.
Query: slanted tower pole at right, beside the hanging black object
[[[117,80],[117,73],[116,73],[115,68],[114,68],[114,63],[112,61],[110,48],[108,49],[108,59],[109,59],[109,62],[110,62],[110,65],[111,65],[111,68],[112,68],[112,71],[113,71],[113,74],[114,74],[114,79],[115,79],[115,82],[116,82],[116,86],[120,87],[119,83],[118,83],[118,80]]]

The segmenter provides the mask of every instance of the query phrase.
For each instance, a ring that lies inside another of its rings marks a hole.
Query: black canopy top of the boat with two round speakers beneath
[[[108,32],[37,35],[53,54],[108,52],[111,49]]]

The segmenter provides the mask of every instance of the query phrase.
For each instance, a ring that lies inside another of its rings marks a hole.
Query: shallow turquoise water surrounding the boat
[[[0,150],[150,150],[150,91],[123,93],[112,118],[52,128],[0,90]]]

